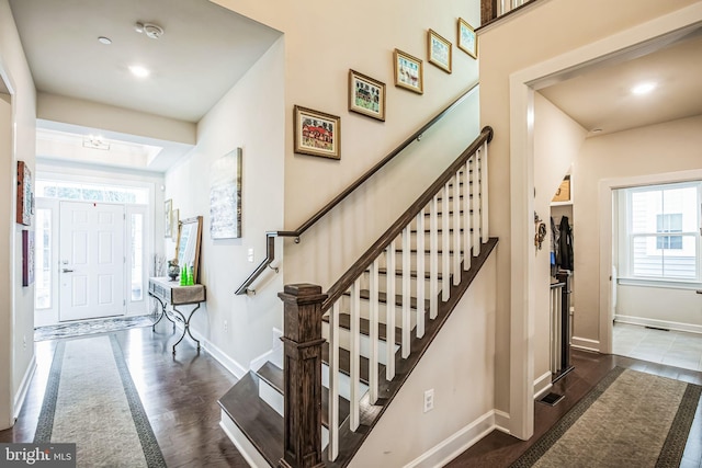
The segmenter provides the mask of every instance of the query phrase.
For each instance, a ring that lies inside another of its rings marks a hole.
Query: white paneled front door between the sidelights
[[[123,316],[124,206],[61,202],[59,321]]]

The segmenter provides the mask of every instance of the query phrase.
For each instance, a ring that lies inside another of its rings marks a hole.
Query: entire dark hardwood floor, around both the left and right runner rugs
[[[170,323],[117,332],[125,359],[169,467],[248,467],[219,427],[220,398],[235,383],[206,352],[197,354],[188,339],[177,355],[171,345],[179,334]],[[37,370],[12,429],[0,431],[0,442],[32,442],[44,400],[55,341],[36,343]],[[630,367],[702,385],[702,373],[627,357],[574,351],[575,370],[561,379],[554,391],[565,399],[555,407],[535,403],[535,431],[519,441],[495,431],[460,455],[448,467],[507,467],[545,433],[614,366]],[[688,438],[681,467],[702,468],[702,402]]]

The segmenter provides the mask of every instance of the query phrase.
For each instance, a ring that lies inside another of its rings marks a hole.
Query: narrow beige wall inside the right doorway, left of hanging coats
[[[586,135],[585,128],[551,101],[534,94],[534,209],[548,229],[542,249],[533,249],[536,262],[534,330],[540,336],[534,342],[535,393],[551,385],[551,346],[544,339],[544,332],[551,328],[551,201],[576,160]]]

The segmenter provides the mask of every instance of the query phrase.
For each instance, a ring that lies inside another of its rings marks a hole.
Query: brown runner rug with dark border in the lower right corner
[[[616,367],[512,467],[678,467],[701,390]]]

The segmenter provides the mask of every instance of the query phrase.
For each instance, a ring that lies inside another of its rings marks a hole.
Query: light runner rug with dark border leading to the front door
[[[34,443],[77,444],[78,467],[166,467],[114,334],[58,342]]]

